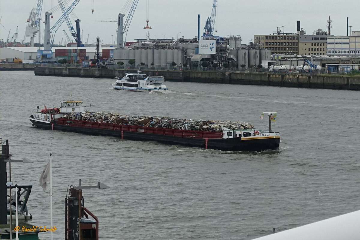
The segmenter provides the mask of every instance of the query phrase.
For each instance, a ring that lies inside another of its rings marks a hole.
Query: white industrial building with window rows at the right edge
[[[328,37],[327,55],[360,56],[360,31],[352,31],[351,36]]]

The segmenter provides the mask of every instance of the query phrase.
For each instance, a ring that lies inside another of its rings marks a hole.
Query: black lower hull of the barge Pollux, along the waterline
[[[56,122],[44,123],[30,120],[34,126],[44,128],[46,130],[61,130],[67,132],[85,133],[89,135],[104,135],[121,138],[121,131],[99,129],[99,128],[84,128],[69,125],[57,124]],[[53,124],[53,126],[52,126]],[[195,139],[189,137],[176,137],[169,135],[160,135],[142,132],[123,131],[123,139],[138,140],[138,141],[157,141],[163,144],[175,144],[197,148],[206,148],[205,139]],[[263,150],[278,150],[280,145],[279,138],[271,139],[256,139],[256,140],[241,140],[240,137],[230,139],[208,139],[207,148],[217,149],[222,151],[263,151]]]

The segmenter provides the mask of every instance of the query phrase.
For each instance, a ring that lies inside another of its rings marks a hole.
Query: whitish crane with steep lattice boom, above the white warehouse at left
[[[25,37],[30,37],[30,46],[35,46],[35,35],[40,31],[40,20],[42,12],[42,1],[38,0],[36,9],[32,8],[29,18],[26,20],[28,26],[25,29]],[[40,42],[39,42],[40,43]]]

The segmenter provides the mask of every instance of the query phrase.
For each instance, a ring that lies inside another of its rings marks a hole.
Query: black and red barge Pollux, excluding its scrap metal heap
[[[126,123],[114,124],[69,119],[68,113],[85,116],[82,101],[63,100],[59,108],[42,109],[31,114],[33,126],[46,130],[61,130],[86,133],[90,135],[109,135],[129,140],[150,140],[164,144],[217,149],[223,151],[263,151],[278,150],[280,133],[271,131],[271,114],[269,128],[228,129],[221,128],[219,132],[200,130],[181,130],[151,126],[135,126]],[[106,114],[105,114],[106,115]]]

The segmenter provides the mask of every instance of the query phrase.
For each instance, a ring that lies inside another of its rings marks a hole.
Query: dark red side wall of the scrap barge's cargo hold
[[[141,133],[166,135],[166,136],[188,137],[195,139],[222,138],[222,132],[204,132],[204,131],[180,130],[180,129],[171,129],[171,128],[141,127],[141,126],[132,126],[132,125],[113,124],[113,123],[78,121],[78,120],[71,120],[66,118],[58,118],[57,124],[68,125],[71,127],[97,128],[97,129],[125,131],[125,132],[141,132]]]

